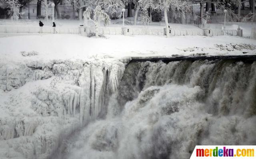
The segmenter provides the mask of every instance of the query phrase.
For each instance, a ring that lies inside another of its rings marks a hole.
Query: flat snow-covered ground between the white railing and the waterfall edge
[[[5,37],[6,36],[6,37]],[[65,34],[0,34],[1,61],[90,59],[123,57],[171,57],[196,53],[207,55],[255,55],[255,50],[220,49],[218,45],[256,44],[256,40],[233,36],[108,35],[106,38]],[[38,55],[24,57],[21,51]]]

